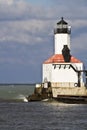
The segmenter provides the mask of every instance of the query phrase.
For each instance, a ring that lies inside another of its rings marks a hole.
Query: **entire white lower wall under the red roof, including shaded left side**
[[[66,63],[65,63],[66,64]],[[68,63],[67,63],[68,64]],[[72,64],[76,69],[82,70],[82,63],[73,63]],[[43,82],[46,79],[50,82],[78,82],[78,74],[72,69],[62,66],[60,69],[58,66],[54,69],[52,64],[43,64]],[[81,82],[83,82],[83,73],[81,73]]]

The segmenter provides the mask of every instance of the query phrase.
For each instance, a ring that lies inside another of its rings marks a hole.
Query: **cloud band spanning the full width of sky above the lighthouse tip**
[[[86,16],[85,0],[54,0],[53,5],[44,7],[43,5],[34,5],[27,0],[1,0],[0,19],[1,20],[24,20],[24,19],[56,19],[65,16],[70,19],[84,18]],[[8,4],[9,3],[9,4]],[[10,4],[11,3],[11,4]],[[38,1],[37,1],[38,3]],[[43,3],[43,2],[42,2]],[[9,6],[10,5],[10,6]],[[82,15],[81,15],[81,13]]]

